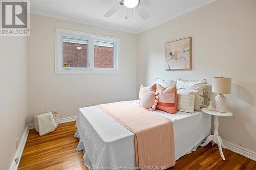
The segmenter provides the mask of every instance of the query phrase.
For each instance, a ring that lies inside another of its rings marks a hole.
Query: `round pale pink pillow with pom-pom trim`
[[[152,88],[143,91],[139,99],[139,106],[145,110],[155,110],[158,103],[158,92]]]

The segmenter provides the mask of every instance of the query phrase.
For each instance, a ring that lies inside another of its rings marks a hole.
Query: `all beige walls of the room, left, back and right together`
[[[255,7],[253,0],[218,0],[138,35],[32,14],[28,42],[0,37],[0,169],[9,168],[15,140],[34,113],[58,110],[64,118],[79,107],[135,99],[136,85],[138,92],[154,77],[207,79],[209,85],[212,76],[232,78],[226,96],[234,116],[220,118],[220,135],[256,152]],[[55,27],[120,37],[120,74],[55,75]],[[193,69],[164,70],[164,43],[189,36]]]

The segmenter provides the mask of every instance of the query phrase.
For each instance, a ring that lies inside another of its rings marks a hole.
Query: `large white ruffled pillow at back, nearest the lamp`
[[[195,107],[194,109],[196,111],[200,111],[203,107],[204,98],[201,97],[201,95],[204,94],[205,87],[206,87],[207,81],[188,81],[188,80],[178,80],[176,83],[177,86],[177,93],[178,94],[184,94],[184,91],[187,91],[188,93],[194,93],[195,94]]]

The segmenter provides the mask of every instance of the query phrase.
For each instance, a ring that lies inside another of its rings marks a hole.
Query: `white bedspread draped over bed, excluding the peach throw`
[[[129,103],[137,105],[138,101]],[[210,133],[211,116],[201,112],[169,114],[155,110],[173,121],[175,158],[194,151]],[[96,106],[79,109],[75,137],[77,150],[84,150],[89,169],[135,167],[134,134]]]

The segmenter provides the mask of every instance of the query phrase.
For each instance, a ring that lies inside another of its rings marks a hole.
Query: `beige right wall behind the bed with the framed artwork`
[[[209,85],[213,76],[232,78],[226,97],[234,116],[220,118],[220,135],[256,152],[255,18],[256,1],[219,0],[138,34],[137,89],[154,77],[207,79]],[[190,36],[193,69],[164,70],[164,43]]]

